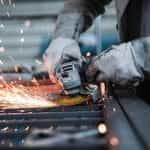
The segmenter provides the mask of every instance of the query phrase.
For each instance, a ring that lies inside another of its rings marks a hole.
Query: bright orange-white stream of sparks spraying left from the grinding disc
[[[0,88],[0,107],[2,109],[46,108],[56,106],[55,103],[29,91],[23,85],[11,85],[2,76],[0,76],[0,80],[1,84],[5,86],[4,88]]]

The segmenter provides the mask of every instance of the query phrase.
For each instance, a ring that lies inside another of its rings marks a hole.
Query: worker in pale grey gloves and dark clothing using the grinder
[[[109,2],[65,0],[52,43],[44,55],[50,74],[65,61],[76,60],[82,65],[79,36],[104,13]],[[150,73],[150,1],[116,0],[116,10],[121,43],[93,58],[87,68],[87,79],[137,86]]]

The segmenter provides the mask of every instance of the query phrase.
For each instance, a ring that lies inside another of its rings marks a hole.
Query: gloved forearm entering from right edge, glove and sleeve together
[[[119,85],[138,85],[150,75],[150,37],[112,46],[93,58],[87,69],[89,81],[111,81]]]

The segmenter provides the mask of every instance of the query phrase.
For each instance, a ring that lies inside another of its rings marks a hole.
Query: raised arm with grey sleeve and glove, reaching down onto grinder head
[[[65,0],[64,9],[58,16],[52,43],[44,60],[50,72],[54,73],[57,64],[76,60],[81,64],[78,38],[93,22],[96,16],[104,13],[104,6],[111,0]]]

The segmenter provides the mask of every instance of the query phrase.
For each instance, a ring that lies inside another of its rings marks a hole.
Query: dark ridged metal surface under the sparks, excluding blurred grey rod
[[[0,113],[0,148],[24,149],[24,140],[33,129],[54,128],[58,132],[75,133],[96,129],[104,123],[102,104],[89,104],[69,107],[42,109],[12,109]],[[28,129],[28,130],[27,130]],[[87,144],[86,144],[87,143]],[[105,136],[85,138],[74,142],[59,142],[49,149],[107,149]],[[38,148],[38,147],[37,147]],[[47,147],[42,148],[47,149]]]

